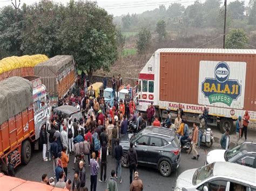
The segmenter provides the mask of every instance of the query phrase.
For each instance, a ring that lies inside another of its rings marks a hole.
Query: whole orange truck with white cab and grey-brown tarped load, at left
[[[31,148],[47,122],[49,101],[38,76],[10,77],[0,81],[0,169],[8,158],[16,166],[28,164]]]

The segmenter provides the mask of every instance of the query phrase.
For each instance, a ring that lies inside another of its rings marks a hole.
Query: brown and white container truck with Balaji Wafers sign
[[[179,107],[192,121],[206,105],[208,125],[234,130],[233,121],[248,110],[256,121],[256,50],[163,48],[139,73],[137,109],[153,103],[165,118]]]

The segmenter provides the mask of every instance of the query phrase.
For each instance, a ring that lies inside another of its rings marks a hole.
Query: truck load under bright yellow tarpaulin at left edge
[[[33,75],[34,67],[48,60],[43,54],[11,56],[0,60],[0,81],[7,77]]]

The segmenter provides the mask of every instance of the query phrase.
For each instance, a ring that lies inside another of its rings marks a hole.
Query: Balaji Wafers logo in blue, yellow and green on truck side
[[[219,102],[230,106],[241,95],[241,85],[238,80],[229,79],[230,73],[227,63],[219,62],[214,69],[215,79],[205,78],[201,91],[210,104]]]

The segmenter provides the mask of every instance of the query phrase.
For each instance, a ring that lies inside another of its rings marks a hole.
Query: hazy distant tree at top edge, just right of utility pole
[[[240,2],[239,0],[230,2],[230,4],[228,4],[227,6],[227,12],[230,13],[232,19],[244,18],[245,2]]]

